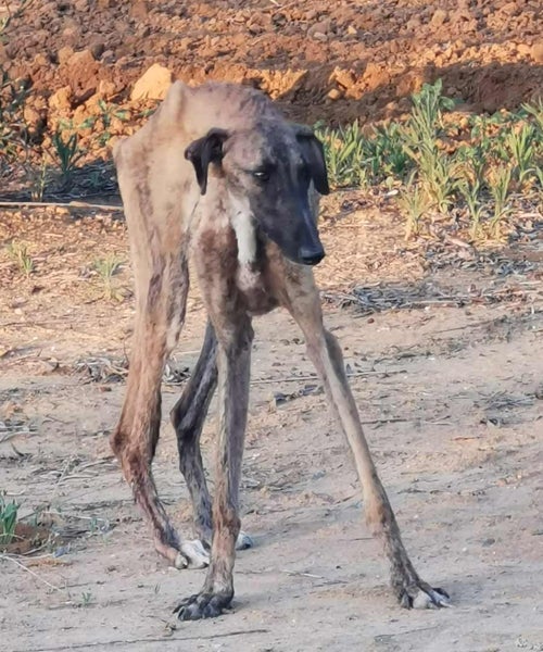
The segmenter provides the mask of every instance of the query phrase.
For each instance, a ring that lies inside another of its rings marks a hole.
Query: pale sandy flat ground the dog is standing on
[[[318,269],[327,322],[407,548],[454,609],[394,603],[346,444],[300,334],[278,312],[256,323],[243,467],[255,547],[238,556],[233,613],[172,629],[173,605],[203,572],[168,568],[154,553],[108,443],[124,384],[96,373],[129,350],[128,264],[114,277],[122,300],[105,300],[89,272],[104,251],[128,260],[124,223],[3,213],[2,239],[33,242],[37,268],[25,279],[5,253],[0,261],[1,486],[59,539],[0,562],[2,650],[543,650],[541,230],[506,252],[424,254],[403,244],[390,215],[329,202]],[[359,301],[339,308],[355,288]],[[203,330],[197,290],[189,305],[180,369],[195,362]],[[189,534],[167,419],[178,391],[164,386],[154,472]]]

